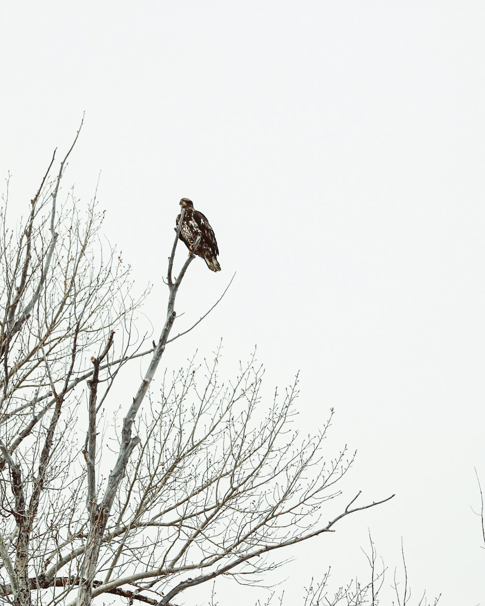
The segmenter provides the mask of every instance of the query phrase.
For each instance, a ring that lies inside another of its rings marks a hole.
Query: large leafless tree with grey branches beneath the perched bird
[[[129,271],[101,246],[96,198],[84,215],[73,193],[58,201],[73,146],[53,178],[52,159],[17,230],[8,182],[2,204],[0,600],[85,606],[108,593],[175,604],[221,575],[252,582],[281,564],[273,551],[387,501],[357,505],[358,493],[327,513],[353,455],[324,459],[330,420],[298,435],[297,379],[264,404],[254,356],[227,384],[216,352],[149,390],[166,345],[191,330],[170,338],[194,257],[173,276],[178,226],[160,337],[141,351],[133,313],[143,296],[130,299]],[[136,393],[116,392],[118,423],[110,390],[135,358],[146,370]]]

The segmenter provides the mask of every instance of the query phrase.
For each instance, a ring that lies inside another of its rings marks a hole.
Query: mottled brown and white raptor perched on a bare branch
[[[189,256],[193,254],[202,257],[210,270],[221,271],[221,265],[219,265],[219,261],[217,260],[219,248],[217,247],[216,236],[206,216],[202,215],[200,211],[195,210],[193,202],[189,198],[182,198],[179,204],[181,208],[185,208],[185,214],[178,237],[189,248]],[[182,211],[180,211],[176,219],[177,227],[181,215]],[[200,242],[198,247],[193,250],[198,236],[201,236]]]

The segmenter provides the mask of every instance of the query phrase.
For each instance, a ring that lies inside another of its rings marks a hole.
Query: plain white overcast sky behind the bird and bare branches
[[[396,493],[295,550],[295,598],[329,564],[336,581],[358,572],[369,528],[391,568],[403,536],[416,597],[485,604],[470,509],[474,467],[485,484],[484,32],[471,0],[0,9],[12,203],[27,207],[85,110],[65,190],[89,201],[102,171],[104,231],[136,288],[155,284],[155,332],[182,196],[215,229],[222,271],[191,265],[181,323],[237,271],[166,363],[222,337],[233,368],[258,344],[269,390],[301,369],[304,430],[335,408],[329,458],[358,449],[345,499]]]

